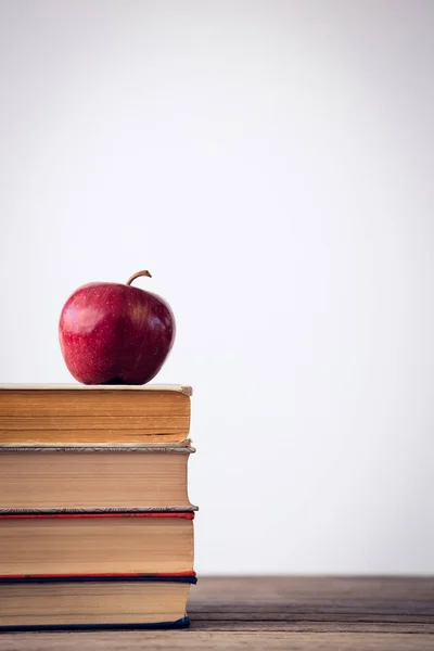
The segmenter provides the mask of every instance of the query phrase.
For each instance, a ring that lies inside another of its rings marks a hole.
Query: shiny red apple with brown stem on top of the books
[[[162,368],[175,339],[175,317],[156,294],[92,282],[66,301],[59,339],[71,373],[84,384],[145,384]]]

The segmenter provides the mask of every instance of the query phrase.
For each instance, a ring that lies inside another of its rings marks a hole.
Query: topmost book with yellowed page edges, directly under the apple
[[[188,445],[190,386],[0,385],[0,445]]]

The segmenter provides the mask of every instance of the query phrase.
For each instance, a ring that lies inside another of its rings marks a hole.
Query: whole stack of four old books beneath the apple
[[[0,628],[180,627],[191,388],[0,387]]]

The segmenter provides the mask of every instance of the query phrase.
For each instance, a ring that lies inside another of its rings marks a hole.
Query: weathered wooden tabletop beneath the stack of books
[[[1,651],[434,650],[434,578],[204,578],[183,630],[3,634]]]

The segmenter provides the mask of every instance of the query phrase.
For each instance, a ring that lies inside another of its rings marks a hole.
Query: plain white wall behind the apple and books
[[[434,572],[434,3],[0,1],[0,381],[162,294],[201,573]]]

